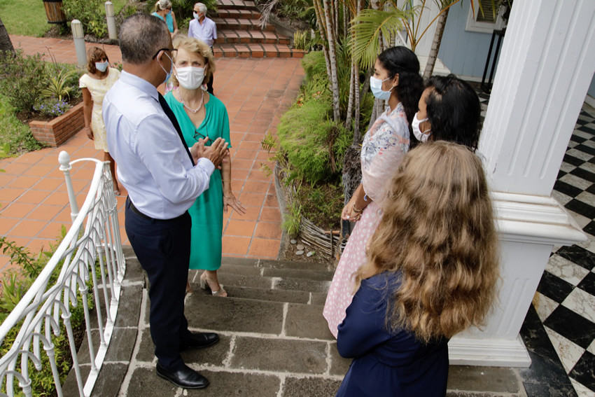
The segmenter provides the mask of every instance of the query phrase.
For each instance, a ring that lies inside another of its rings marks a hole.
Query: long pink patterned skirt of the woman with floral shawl
[[[353,298],[353,274],[366,262],[365,244],[382,219],[382,210],[375,203],[365,207],[361,219],[353,228],[326,296],[323,316],[328,328],[337,337],[337,327],[345,319],[345,310]]]

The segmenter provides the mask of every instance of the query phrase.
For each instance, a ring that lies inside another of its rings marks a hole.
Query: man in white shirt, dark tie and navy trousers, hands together
[[[190,150],[157,87],[172,73],[172,38],[151,15],[137,14],[120,27],[123,72],[104,98],[108,148],[128,191],[125,228],[147,273],[151,337],[157,373],[186,389],[209,381],[189,368],[180,351],[218,342],[216,333],[190,333],[184,296],[190,261],[188,208],[227,153],[225,141]],[[196,163],[196,165],[195,165]]]

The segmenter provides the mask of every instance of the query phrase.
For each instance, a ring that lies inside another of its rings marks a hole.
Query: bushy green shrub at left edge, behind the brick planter
[[[45,88],[48,74],[41,55],[0,53],[0,89],[15,111],[32,111],[33,105]]]

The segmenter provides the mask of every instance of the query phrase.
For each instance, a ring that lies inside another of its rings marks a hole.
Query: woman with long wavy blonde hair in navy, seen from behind
[[[354,358],[337,396],[444,396],[448,340],[496,300],[498,242],[482,164],[421,144],[393,177],[337,349]]]

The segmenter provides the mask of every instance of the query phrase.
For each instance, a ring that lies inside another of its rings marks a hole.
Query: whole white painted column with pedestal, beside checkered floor
[[[595,71],[595,1],[515,1],[479,151],[500,235],[499,302],[451,363],[528,366],[519,330],[552,248],[586,239],[550,197]]]

